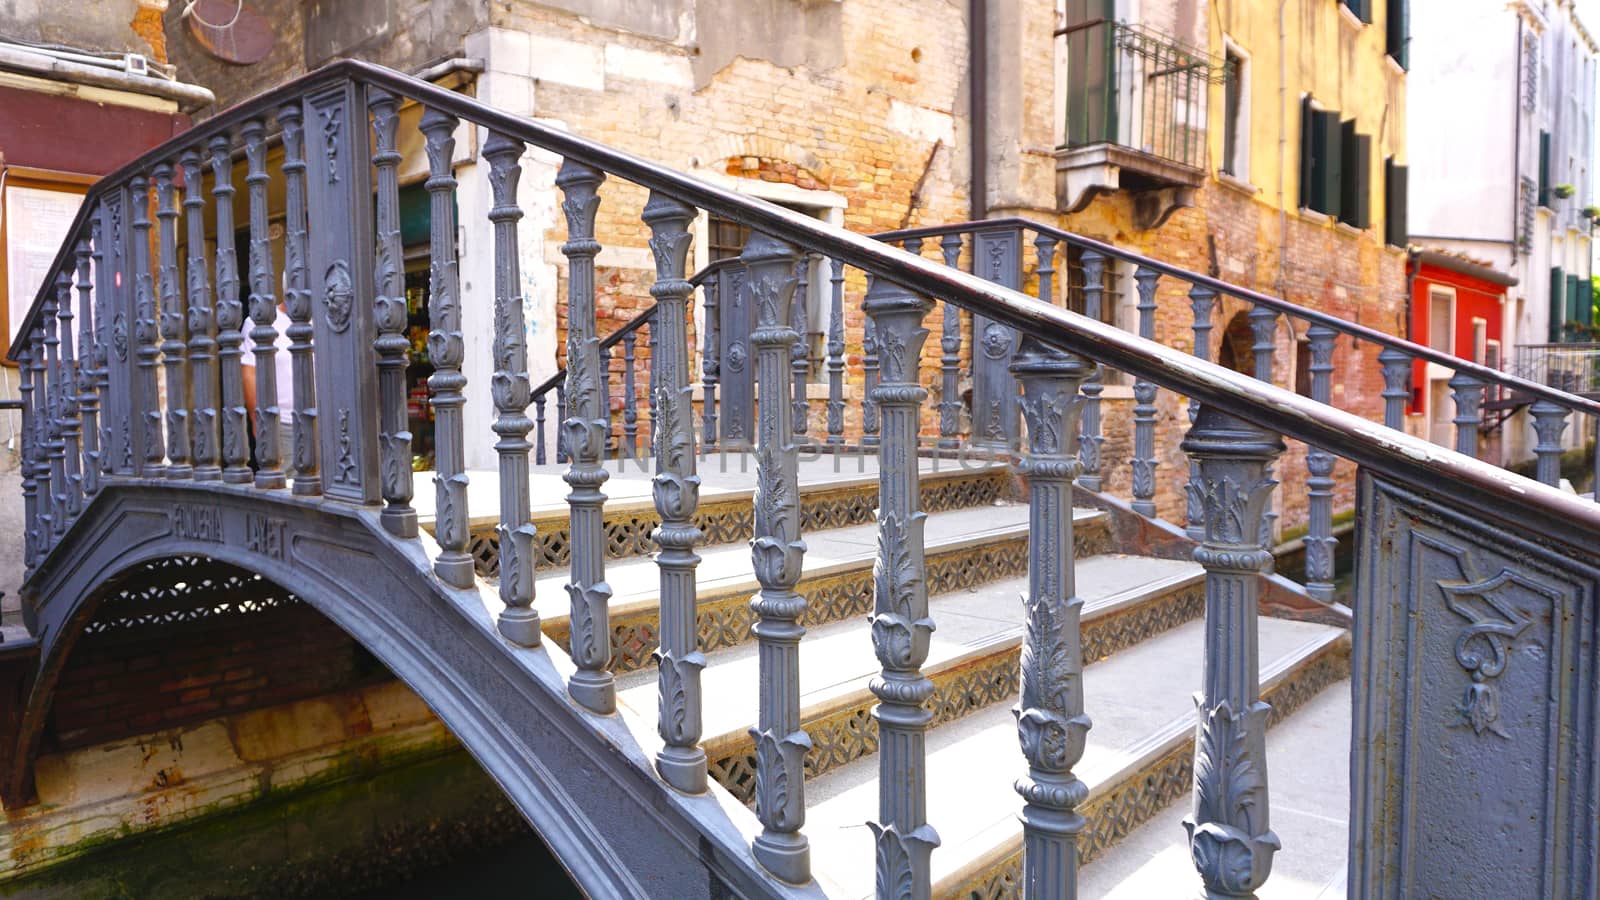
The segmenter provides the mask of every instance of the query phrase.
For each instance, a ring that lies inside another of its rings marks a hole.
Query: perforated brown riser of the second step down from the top
[[[1074,524],[1074,551],[1078,559],[1104,552],[1109,532],[1102,516]],[[814,626],[866,617],[872,612],[872,565],[875,554],[819,570],[802,570],[795,589],[806,597],[802,625]],[[926,548],[928,594],[976,588],[1003,578],[1027,575],[1027,525],[1008,525],[981,535],[952,538]],[[752,636],[755,613],[750,597],[760,589],[755,577],[722,580],[696,597],[694,628],[701,652],[744,644]],[[648,666],[659,645],[656,599],[619,604],[610,610],[611,671],[627,673]],[[546,639],[563,652],[571,647],[570,613],[550,615],[542,623]]]

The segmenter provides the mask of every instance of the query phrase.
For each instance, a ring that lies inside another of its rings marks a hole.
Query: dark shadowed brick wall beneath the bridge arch
[[[67,657],[45,751],[90,746],[392,676],[304,604],[85,634]]]

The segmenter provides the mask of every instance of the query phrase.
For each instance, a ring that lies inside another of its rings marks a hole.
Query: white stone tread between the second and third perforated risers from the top
[[[931,527],[931,519],[930,519]],[[1194,562],[1102,554],[1078,560],[1077,588],[1085,599],[1083,620],[1120,612],[1160,597],[1203,578]],[[938,625],[928,650],[928,673],[962,666],[997,653],[1016,655],[1022,639],[1022,591],[1026,578],[1006,578],[930,597]],[[813,628],[800,641],[802,717],[870,701],[867,682],[878,673],[872,652],[872,629],[866,618],[834,621]],[[728,740],[744,740],[755,724],[758,692],[757,644],[747,641],[709,655],[701,673],[704,692],[704,743],[707,748]],[[653,713],[656,671],[653,666],[618,676],[622,703]]]

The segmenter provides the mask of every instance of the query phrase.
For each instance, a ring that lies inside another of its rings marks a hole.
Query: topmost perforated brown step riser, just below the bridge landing
[[[752,476],[754,477],[754,476]],[[920,480],[925,512],[987,506],[1011,496],[1013,476],[1005,466],[925,472]],[[862,525],[877,512],[877,476],[800,487],[800,524],[805,530]],[[709,493],[696,511],[694,522],[704,532],[706,544],[733,543],[750,538],[754,524],[754,488],[730,488]],[[550,506],[534,512],[536,569],[565,565],[570,559],[571,535],[566,506]],[[498,516],[474,517],[467,552],[477,573],[494,578],[499,573]],[[661,524],[651,498],[608,501],[603,511],[606,559],[627,559],[653,552],[650,533]],[[432,532],[432,520],[422,527]]]

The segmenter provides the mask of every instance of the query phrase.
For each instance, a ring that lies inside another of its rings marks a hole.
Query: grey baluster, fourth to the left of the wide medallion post
[[[200,154],[186,151],[178,165],[184,170],[184,224],[189,229],[189,373],[194,410],[190,413],[190,456],[195,480],[219,480],[216,421],[216,317],[211,311],[211,282],[205,261],[205,194]],[[136,203],[138,207],[138,203]]]

